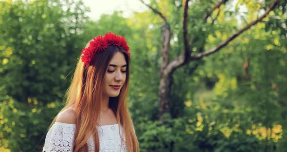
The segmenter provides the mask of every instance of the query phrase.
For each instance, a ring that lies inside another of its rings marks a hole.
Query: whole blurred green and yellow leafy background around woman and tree
[[[274,0],[191,0],[192,51],[208,50],[262,15]],[[182,1],[150,0],[183,52]],[[240,8],[245,8],[242,11]],[[141,152],[287,151],[287,5],[217,53],[173,74],[171,115],[159,121],[162,19],[150,9],[92,20],[79,0],[0,0],[0,152],[39,152],[63,107],[81,49],[109,31],[130,46],[128,103]],[[201,48],[202,49],[202,48]]]

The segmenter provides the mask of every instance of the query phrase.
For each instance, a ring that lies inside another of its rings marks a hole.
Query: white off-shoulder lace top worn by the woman
[[[55,122],[47,133],[43,152],[73,152],[74,131],[76,125]],[[126,143],[123,142],[121,148],[121,131],[119,125],[105,125],[98,127],[100,152],[126,152]],[[124,141],[125,137],[122,135]],[[89,152],[94,152],[93,137],[88,140]]]

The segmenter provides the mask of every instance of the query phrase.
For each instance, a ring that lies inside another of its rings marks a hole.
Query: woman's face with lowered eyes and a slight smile
[[[104,96],[115,97],[120,94],[120,90],[126,81],[126,66],[124,54],[120,52],[115,53],[108,65],[108,71],[104,78]]]

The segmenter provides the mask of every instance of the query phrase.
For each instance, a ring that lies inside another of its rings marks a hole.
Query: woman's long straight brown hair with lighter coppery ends
[[[90,42],[87,44],[88,47]],[[131,117],[128,112],[126,97],[128,94],[130,58],[123,48],[111,45],[105,51],[97,54],[97,59],[91,66],[86,66],[79,58],[71,86],[66,93],[66,104],[61,110],[75,105],[76,130],[74,133],[74,152],[88,152],[87,141],[92,135],[95,152],[99,152],[99,137],[97,127],[98,116],[102,101],[103,80],[108,70],[108,64],[116,52],[124,54],[126,67],[126,81],[117,97],[109,98],[109,108],[116,115],[119,125],[122,125],[126,138],[127,152],[139,152],[139,143],[133,129]],[[51,126],[54,124],[54,118]],[[51,127],[50,126],[50,127]],[[119,127],[120,128],[120,127]],[[121,136],[123,139],[123,137]]]

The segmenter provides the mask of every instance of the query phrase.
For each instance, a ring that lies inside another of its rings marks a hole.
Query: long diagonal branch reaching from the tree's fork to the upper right
[[[225,41],[221,42],[218,46],[203,52],[203,53],[199,53],[196,56],[191,57],[191,59],[200,59],[201,57],[204,56],[208,56],[211,55],[213,53],[215,53],[216,51],[220,50],[221,48],[223,48],[224,46],[226,46],[229,42],[231,42],[234,38],[238,37],[240,34],[242,34],[244,31],[248,30],[251,26],[255,25],[257,22],[261,21],[262,19],[264,19],[269,12],[274,9],[274,7],[279,3],[279,0],[275,0],[271,6],[268,8],[268,10],[258,19],[252,21],[250,24],[246,25],[245,27],[243,27],[242,29],[240,29],[238,32],[234,33],[231,37],[227,38]]]

